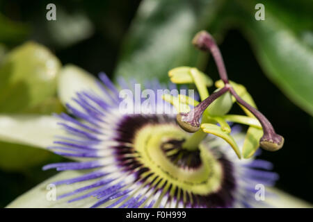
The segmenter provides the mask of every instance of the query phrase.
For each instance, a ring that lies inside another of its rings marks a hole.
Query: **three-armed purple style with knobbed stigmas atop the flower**
[[[193,110],[187,113],[181,112],[177,114],[177,122],[179,123],[179,126],[190,133],[195,133],[198,131],[200,128],[199,119],[202,116],[204,110],[206,110],[214,100],[218,99],[219,96],[222,96],[225,92],[230,91],[236,101],[247,108],[261,123],[264,135],[259,140],[260,146],[268,151],[277,151],[282,148],[282,145],[284,144],[284,137],[276,134],[270,121],[268,121],[268,119],[266,119],[266,117],[264,117],[261,112],[241,99],[241,97],[236,94],[235,90],[229,84],[222,55],[213,37],[207,33],[207,31],[200,31],[193,38],[193,44],[202,51],[211,52],[216,62],[220,79],[223,80],[225,86],[218,92],[211,94],[211,96],[209,96],[207,99],[204,99],[204,101],[197,105]]]

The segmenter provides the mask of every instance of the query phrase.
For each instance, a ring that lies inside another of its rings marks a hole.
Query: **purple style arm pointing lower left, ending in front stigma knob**
[[[200,129],[200,117],[202,116],[204,110],[218,97],[222,96],[225,92],[230,89],[230,85],[227,84],[222,89],[218,90],[218,92],[214,92],[211,96],[204,99],[201,103],[199,103],[193,110],[189,112],[180,112],[177,114],[177,123],[181,126],[184,130],[189,133],[195,133]]]

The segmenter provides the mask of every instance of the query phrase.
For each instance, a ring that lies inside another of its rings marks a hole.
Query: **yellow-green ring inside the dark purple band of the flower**
[[[145,126],[138,130],[134,139],[138,161],[148,167],[150,173],[155,173],[173,187],[200,195],[217,191],[220,188],[223,171],[218,160],[206,146],[199,145],[201,164],[192,169],[175,165],[161,148],[162,144],[169,140],[182,141],[187,137],[190,137],[188,133],[173,124]],[[163,183],[158,187],[161,185]]]

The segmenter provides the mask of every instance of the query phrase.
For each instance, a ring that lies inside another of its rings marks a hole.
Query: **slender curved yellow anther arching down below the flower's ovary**
[[[215,124],[211,124],[211,123],[203,123],[201,124],[201,128],[204,131],[204,133],[211,133],[213,135],[216,135],[224,139],[225,142],[227,142],[228,144],[230,144],[230,146],[232,146],[232,149],[235,151],[239,159],[241,158],[239,147],[236,144],[236,141],[234,140],[234,138],[230,134],[225,133],[219,126],[216,126]]]

